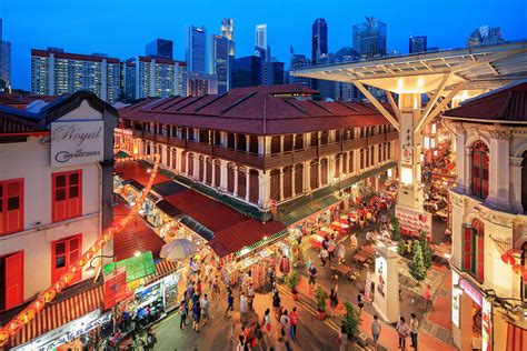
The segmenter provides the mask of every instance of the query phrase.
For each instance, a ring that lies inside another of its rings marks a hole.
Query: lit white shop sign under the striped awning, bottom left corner
[[[108,323],[110,320],[111,312],[101,315],[100,310],[95,310],[72,322],[47,332],[46,334],[32,340],[30,343],[20,345],[12,350],[54,350],[64,343],[82,337],[90,330]]]

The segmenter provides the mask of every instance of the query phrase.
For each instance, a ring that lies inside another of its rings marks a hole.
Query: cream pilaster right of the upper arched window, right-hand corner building
[[[489,187],[486,202],[501,211],[510,211],[509,143],[508,131],[493,132],[490,136]]]

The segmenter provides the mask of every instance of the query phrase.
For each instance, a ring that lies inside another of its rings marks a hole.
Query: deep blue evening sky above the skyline
[[[0,0],[3,38],[12,46],[12,86],[30,84],[30,49],[105,52],[127,59],[145,53],[155,38],[173,40],[185,59],[186,29],[205,24],[219,33],[221,18],[235,19],[237,57],[252,53],[255,24],[267,23],[272,56],[289,62],[289,48],[311,52],[311,24],[328,23],[329,51],[351,46],[351,26],[375,17],[388,24],[388,50],[408,52],[409,34],[428,36],[429,47],[459,48],[483,24],[500,26],[505,39],[527,38],[526,0]]]

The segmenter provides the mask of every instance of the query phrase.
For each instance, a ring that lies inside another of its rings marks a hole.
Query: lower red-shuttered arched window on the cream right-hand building
[[[478,281],[485,279],[485,224],[474,219],[471,227],[465,228],[463,244],[463,269]]]

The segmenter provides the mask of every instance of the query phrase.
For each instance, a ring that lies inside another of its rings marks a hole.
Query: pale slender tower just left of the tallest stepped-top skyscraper
[[[209,44],[209,71],[217,77],[218,93],[230,89],[230,40],[226,37],[211,34]]]

